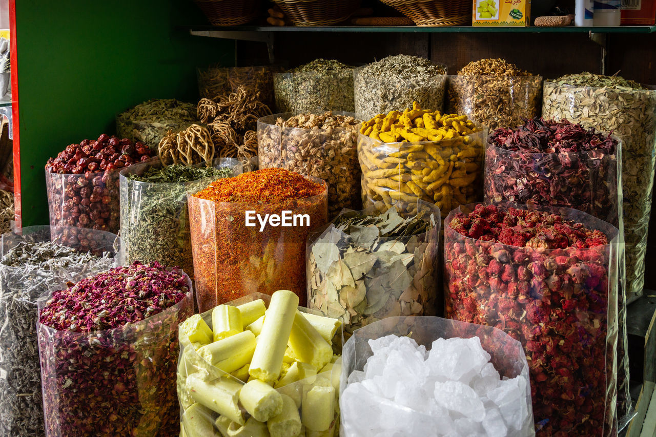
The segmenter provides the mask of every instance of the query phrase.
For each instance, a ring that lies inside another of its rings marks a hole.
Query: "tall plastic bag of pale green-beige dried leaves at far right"
[[[619,76],[584,72],[544,82],[543,116],[612,132],[622,140],[626,299],[642,296],[656,174],[656,91]]]

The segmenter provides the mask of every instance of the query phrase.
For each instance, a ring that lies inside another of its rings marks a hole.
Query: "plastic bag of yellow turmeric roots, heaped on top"
[[[435,203],[442,217],[458,205],[483,198],[483,153],[487,129],[466,115],[422,110],[365,121],[358,136],[362,201],[380,212],[396,205],[414,215],[417,200]]]

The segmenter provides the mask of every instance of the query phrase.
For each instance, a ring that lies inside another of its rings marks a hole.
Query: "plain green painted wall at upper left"
[[[16,3],[23,226],[48,222],[49,157],[149,98],[197,100],[195,66],[234,63],[234,41],[184,30],[207,24],[190,0]]]

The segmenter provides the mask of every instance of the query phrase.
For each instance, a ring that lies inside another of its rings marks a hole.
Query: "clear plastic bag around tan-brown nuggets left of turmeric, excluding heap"
[[[349,112],[335,114],[355,116]],[[277,119],[287,120],[292,115],[268,115],[257,121],[259,168],[277,167],[325,180],[329,218],[342,208],[359,208],[359,123],[328,129],[276,125]]]

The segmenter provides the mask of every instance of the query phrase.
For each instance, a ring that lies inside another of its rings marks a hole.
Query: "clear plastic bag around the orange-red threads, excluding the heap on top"
[[[276,204],[215,202],[192,194],[188,203],[201,312],[253,291],[270,295],[279,289],[293,291],[304,305],[305,243],[312,230],[327,222],[327,190]],[[247,211],[252,226],[245,226]],[[282,220],[283,211],[292,226],[264,226],[260,232],[257,215],[266,220],[265,215],[275,214]]]

